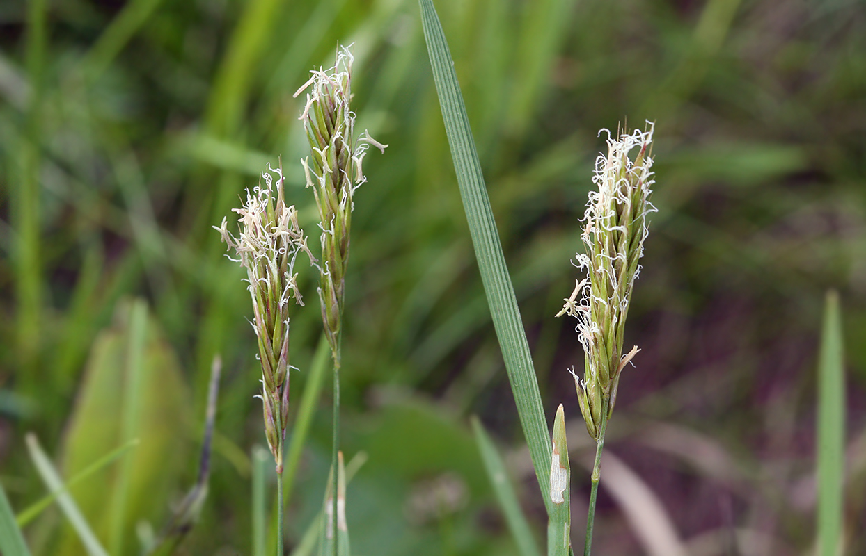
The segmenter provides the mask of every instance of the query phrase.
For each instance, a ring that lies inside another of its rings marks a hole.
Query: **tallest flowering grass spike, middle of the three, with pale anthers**
[[[321,221],[322,261],[320,297],[322,320],[333,353],[338,353],[340,320],[346,262],[349,258],[349,230],[352,224],[352,197],[366,181],[362,162],[370,145],[385,150],[365,131],[354,137],[355,114],[352,99],[352,53],[341,48],[334,67],[313,70],[297,97],[308,88],[307,105],[301,114],[311,154],[301,161],[307,187],[313,188]]]

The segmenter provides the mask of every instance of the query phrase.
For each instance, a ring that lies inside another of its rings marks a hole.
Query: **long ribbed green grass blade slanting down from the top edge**
[[[496,336],[499,338],[508,380],[511,382],[517,412],[520,414],[520,424],[523,425],[535,475],[549,513],[551,504],[546,491],[550,482],[551,451],[527,335],[520,320],[514,287],[508,276],[499,234],[496,232],[484,176],[481,174],[481,163],[475,151],[475,142],[469,128],[469,118],[463,105],[448,42],[432,0],[419,0],[419,3],[424,39],[430,54],[433,79],[436,81],[436,93],[442,108],[457,183],[481,271],[481,281],[487,293]]]

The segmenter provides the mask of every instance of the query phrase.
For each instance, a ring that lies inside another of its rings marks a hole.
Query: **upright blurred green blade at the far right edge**
[[[827,293],[818,357],[818,554],[837,556],[845,474],[845,376],[839,296]]]

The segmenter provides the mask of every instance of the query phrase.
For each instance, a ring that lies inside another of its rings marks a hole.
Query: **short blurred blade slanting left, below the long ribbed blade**
[[[481,452],[481,458],[484,460],[484,468],[488,472],[496,500],[502,508],[502,514],[505,514],[505,521],[514,537],[514,542],[517,543],[520,556],[541,556],[527,517],[523,514],[520,502],[514,493],[514,487],[508,480],[505,463],[502,462],[499,452],[496,451],[493,440],[484,430],[484,425],[481,425],[481,420],[475,416],[472,418],[472,430],[475,431],[475,442],[478,444],[478,451]]]

